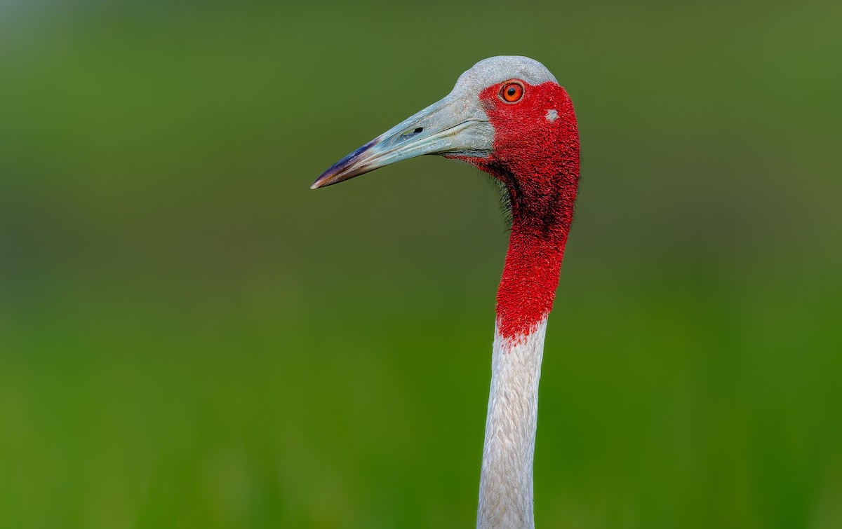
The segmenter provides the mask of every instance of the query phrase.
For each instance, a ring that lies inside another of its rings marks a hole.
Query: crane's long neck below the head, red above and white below
[[[575,124],[573,124],[575,127]],[[575,131],[575,129],[573,129]],[[538,382],[578,184],[578,135],[555,157],[486,163],[509,190],[512,231],[497,293],[478,529],[533,529]]]

